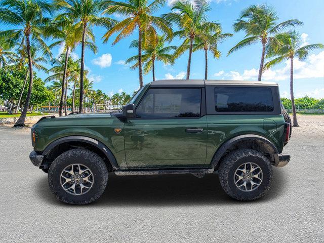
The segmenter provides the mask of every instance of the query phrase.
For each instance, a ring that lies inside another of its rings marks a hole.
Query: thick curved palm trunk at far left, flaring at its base
[[[21,115],[19,119],[16,121],[14,127],[23,127],[25,126],[25,120],[27,115],[27,110],[31,98],[31,91],[32,91],[32,82],[33,82],[33,73],[32,73],[32,59],[30,53],[30,42],[29,42],[29,34],[26,34],[26,46],[27,46],[27,56],[28,56],[28,67],[29,67],[29,87],[27,92],[27,97],[25,101],[25,105],[23,110],[21,111]]]

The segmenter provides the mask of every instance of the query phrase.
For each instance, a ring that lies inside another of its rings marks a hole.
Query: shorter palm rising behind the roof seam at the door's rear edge
[[[218,26],[213,26],[214,23],[206,22],[201,24],[199,32],[194,39],[193,52],[203,50],[205,52],[205,79],[208,76],[208,51],[210,51],[214,58],[219,58],[221,52],[218,50],[218,44],[224,39],[233,36],[230,33],[222,33],[221,30],[213,31]]]

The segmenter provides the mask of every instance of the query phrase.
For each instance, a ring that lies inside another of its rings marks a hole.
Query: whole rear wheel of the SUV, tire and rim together
[[[255,200],[265,195],[271,186],[271,163],[256,150],[238,149],[221,161],[219,180],[224,191],[232,198]]]

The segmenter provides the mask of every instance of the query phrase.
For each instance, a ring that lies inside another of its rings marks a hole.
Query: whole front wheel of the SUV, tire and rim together
[[[49,185],[57,199],[67,204],[90,204],[106,188],[107,167],[87,149],[71,149],[59,155],[49,169]]]

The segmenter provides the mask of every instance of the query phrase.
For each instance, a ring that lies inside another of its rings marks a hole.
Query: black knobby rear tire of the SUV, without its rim
[[[246,162],[258,165],[263,173],[261,184],[253,191],[242,191],[237,188],[234,182],[235,170]],[[221,161],[218,173],[221,186],[226,194],[241,201],[251,201],[264,196],[272,181],[272,168],[269,159],[253,149],[238,149],[230,152]]]

